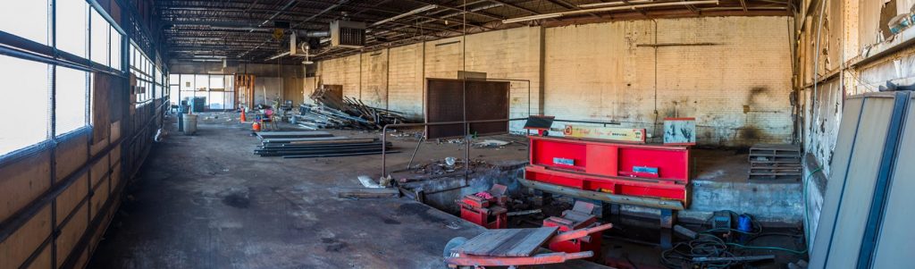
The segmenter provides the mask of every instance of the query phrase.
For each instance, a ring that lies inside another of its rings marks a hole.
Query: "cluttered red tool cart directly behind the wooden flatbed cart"
[[[597,222],[597,216],[592,215],[594,209],[595,205],[592,203],[576,201],[572,210],[563,211],[562,217],[549,217],[544,220],[544,227],[559,227],[560,232],[597,227],[600,223]],[[603,259],[603,252],[600,251],[602,236],[603,231],[595,231],[578,239],[551,242],[550,250],[560,253],[592,252],[594,256],[588,260],[598,262]]]

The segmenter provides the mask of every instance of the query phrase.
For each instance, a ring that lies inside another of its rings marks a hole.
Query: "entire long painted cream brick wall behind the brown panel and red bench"
[[[377,52],[329,59],[318,71],[323,83],[343,84],[344,94],[361,94],[365,102],[381,103],[381,91],[387,91],[391,109],[414,116],[423,112],[425,78],[456,78],[466,64],[466,70],[486,72],[490,79],[530,80],[532,113],[619,121],[650,132],[664,117],[695,117],[700,144],[781,143],[791,136],[787,19],[519,27],[391,48],[373,57]],[[459,42],[447,44],[454,41]],[[655,41],[716,45],[638,46]],[[385,53],[389,57],[382,58]],[[511,85],[511,116],[526,116],[528,82]]]

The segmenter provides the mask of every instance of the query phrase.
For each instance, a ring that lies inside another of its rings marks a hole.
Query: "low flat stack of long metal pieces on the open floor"
[[[377,138],[349,138],[317,131],[261,132],[257,137],[261,140],[261,145],[254,149],[254,154],[259,156],[310,158],[382,153],[382,143]],[[384,146],[388,153],[396,153],[390,150],[390,142]]]

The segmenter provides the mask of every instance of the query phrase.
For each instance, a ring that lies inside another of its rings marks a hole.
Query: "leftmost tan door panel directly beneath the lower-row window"
[[[50,178],[48,150],[0,167],[0,220],[6,220],[47,191]]]

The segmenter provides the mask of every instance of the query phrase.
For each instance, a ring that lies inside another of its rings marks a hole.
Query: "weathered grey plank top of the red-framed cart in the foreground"
[[[473,255],[526,257],[550,237],[556,227],[488,230],[458,246],[455,251]]]

